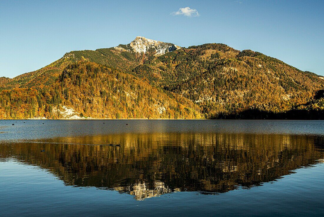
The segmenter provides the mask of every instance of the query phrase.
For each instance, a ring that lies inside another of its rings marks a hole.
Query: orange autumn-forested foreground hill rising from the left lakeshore
[[[49,85],[0,93],[2,118],[64,118],[64,105],[80,117],[201,118],[199,107],[138,78],[80,61],[69,64]]]

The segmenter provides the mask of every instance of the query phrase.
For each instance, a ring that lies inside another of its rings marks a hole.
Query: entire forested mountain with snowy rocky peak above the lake
[[[324,78],[225,44],[136,37],[0,78],[1,118],[323,119]]]

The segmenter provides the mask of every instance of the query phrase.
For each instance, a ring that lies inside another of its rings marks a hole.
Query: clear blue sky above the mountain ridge
[[[324,1],[0,1],[0,76],[136,36],[224,43],[324,75],[323,10]]]

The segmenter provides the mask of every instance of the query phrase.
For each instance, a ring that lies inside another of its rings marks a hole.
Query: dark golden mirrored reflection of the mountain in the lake
[[[110,143],[121,146],[105,145]],[[0,160],[45,168],[66,185],[143,200],[174,191],[218,194],[259,186],[323,162],[323,144],[323,137],[307,135],[129,133],[5,143]]]

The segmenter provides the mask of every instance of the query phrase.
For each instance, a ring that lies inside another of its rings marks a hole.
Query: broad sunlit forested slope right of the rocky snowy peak
[[[313,99],[323,77],[251,50],[205,44],[164,54],[133,74],[178,93],[209,117],[244,109],[283,112]]]

